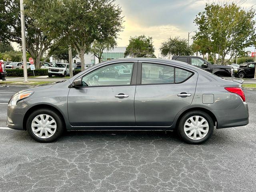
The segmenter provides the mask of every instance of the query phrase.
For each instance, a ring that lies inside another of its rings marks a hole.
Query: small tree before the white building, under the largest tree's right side
[[[114,48],[114,46],[116,45],[117,45],[116,40],[113,37],[107,38],[102,41],[94,40],[90,52],[92,52],[92,54],[94,54],[94,56],[96,56],[99,59],[99,63],[100,63],[102,60],[103,50],[106,49],[109,51],[112,48]]]

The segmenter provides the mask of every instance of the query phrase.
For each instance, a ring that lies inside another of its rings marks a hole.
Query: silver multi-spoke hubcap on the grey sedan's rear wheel
[[[209,131],[207,120],[201,116],[192,116],[188,118],[184,124],[184,132],[186,136],[192,140],[200,140],[204,138]]]

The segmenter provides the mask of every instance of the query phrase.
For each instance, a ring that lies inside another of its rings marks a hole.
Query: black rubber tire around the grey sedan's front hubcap
[[[36,136],[32,131],[32,121],[34,118],[36,118],[36,116],[38,116],[40,114],[47,114],[47,115],[51,116],[56,122],[56,132],[54,134],[52,134],[52,136],[49,138],[40,138],[40,137]],[[38,142],[42,142],[42,143],[47,143],[47,142],[53,142],[64,132],[64,130],[65,130],[64,125],[65,124],[63,123],[62,117],[60,116],[60,114],[58,112],[55,112],[48,108],[41,108],[41,109],[37,109],[37,110],[33,111],[29,115],[27,124],[26,124],[26,128],[28,130],[28,134],[30,134],[30,136],[34,140],[36,140]]]

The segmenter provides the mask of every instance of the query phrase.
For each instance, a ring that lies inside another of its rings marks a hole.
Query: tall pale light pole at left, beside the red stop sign
[[[28,82],[27,56],[26,56],[26,36],[25,36],[25,18],[24,18],[23,0],[20,0],[20,20],[21,20],[21,37],[22,37],[22,56],[23,56],[24,82]]]

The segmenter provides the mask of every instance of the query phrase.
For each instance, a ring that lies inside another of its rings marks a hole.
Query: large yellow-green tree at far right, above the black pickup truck
[[[204,11],[199,12],[194,20],[198,26],[194,40],[201,41],[204,50],[211,47],[210,51],[218,54],[221,64],[225,64],[228,54],[231,59],[255,42],[254,16],[254,9],[245,10],[235,3],[206,4]]]

